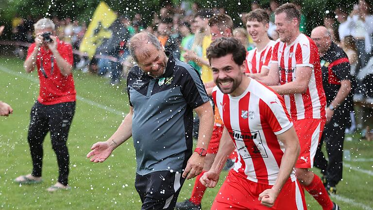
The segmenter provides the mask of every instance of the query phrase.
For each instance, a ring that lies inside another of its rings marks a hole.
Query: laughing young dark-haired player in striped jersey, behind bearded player
[[[246,53],[246,74],[268,74],[268,65],[271,60],[272,49],[275,41],[271,40],[267,31],[269,28],[270,16],[263,9],[256,9],[245,17],[247,33],[251,35],[256,47]]]

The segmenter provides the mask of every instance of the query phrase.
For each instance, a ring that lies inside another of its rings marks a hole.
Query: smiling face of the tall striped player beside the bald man
[[[289,42],[292,34],[296,33],[298,30],[298,21],[295,18],[289,19],[284,12],[274,16],[274,24],[276,25],[276,31],[282,42]]]

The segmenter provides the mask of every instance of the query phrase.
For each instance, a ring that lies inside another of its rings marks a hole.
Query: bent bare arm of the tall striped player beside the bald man
[[[307,91],[313,69],[311,67],[297,67],[295,79],[284,85],[271,86],[280,95],[304,93]]]

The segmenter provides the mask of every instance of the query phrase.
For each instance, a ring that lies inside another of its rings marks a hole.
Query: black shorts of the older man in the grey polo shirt
[[[180,173],[170,171],[136,174],[135,188],[142,202],[141,210],[173,210],[184,181]]]

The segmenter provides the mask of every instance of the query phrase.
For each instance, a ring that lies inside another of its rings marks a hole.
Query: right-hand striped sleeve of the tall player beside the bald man
[[[296,60],[296,67],[311,67],[313,68],[313,60],[315,60],[315,56],[317,56],[316,45],[312,45],[311,42],[299,42],[295,49],[295,60]]]

